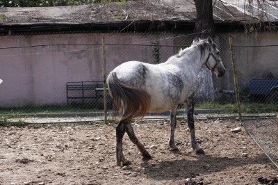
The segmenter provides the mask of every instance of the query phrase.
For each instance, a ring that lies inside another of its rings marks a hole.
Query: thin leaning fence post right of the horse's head
[[[234,86],[236,90],[236,104],[238,108],[238,120],[241,120],[241,108],[240,108],[240,98],[238,92],[238,77],[236,76],[236,65],[234,60],[234,47],[233,47],[233,40],[231,38],[231,34],[229,34],[229,45],[231,51],[231,63],[233,65],[233,73],[234,73]]]

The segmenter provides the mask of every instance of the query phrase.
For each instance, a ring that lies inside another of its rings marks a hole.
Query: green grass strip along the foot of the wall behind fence
[[[242,102],[240,104],[242,113],[277,113],[278,104]],[[179,109],[184,109],[180,105]],[[236,103],[221,104],[219,102],[202,102],[195,105],[196,109],[224,109],[222,113],[237,113]],[[108,110],[111,111],[111,110]],[[103,112],[103,109],[90,106],[26,106],[16,108],[0,108],[0,121],[7,122],[10,118],[26,118],[39,113],[96,113]],[[28,115],[30,114],[30,115]]]

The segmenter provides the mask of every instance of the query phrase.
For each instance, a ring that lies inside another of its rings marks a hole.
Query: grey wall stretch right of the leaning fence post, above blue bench
[[[234,46],[238,46],[236,70],[241,90],[249,86],[250,79],[278,79],[277,32],[235,33]]]

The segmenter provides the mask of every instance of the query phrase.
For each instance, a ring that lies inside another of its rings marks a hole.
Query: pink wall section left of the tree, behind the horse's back
[[[103,37],[106,44],[152,44],[146,36],[131,34],[1,36],[1,48],[19,48],[0,49],[0,106],[66,104],[67,82],[102,81]],[[166,42],[172,45],[172,40]],[[152,58],[150,48],[107,45],[106,74],[124,61],[148,62]],[[172,54],[173,49],[167,48],[161,61]]]

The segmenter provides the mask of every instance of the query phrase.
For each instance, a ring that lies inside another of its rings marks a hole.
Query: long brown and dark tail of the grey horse
[[[115,72],[108,75],[107,83],[113,100],[113,116],[120,111],[120,120],[131,120],[142,118],[149,111],[151,96],[146,90],[124,85]]]

